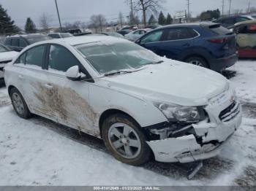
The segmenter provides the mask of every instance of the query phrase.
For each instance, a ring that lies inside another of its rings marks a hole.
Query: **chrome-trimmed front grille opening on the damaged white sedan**
[[[219,114],[219,120],[222,122],[228,122],[230,120],[233,120],[240,112],[240,105],[234,101],[233,104],[228,106],[226,109],[224,109]]]

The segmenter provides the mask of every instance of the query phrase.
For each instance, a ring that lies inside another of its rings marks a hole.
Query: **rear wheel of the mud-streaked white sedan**
[[[18,114],[18,116],[23,119],[29,119],[31,117],[31,112],[29,112],[26,101],[24,100],[19,90],[17,90],[17,88],[13,87],[10,90],[10,98],[12,101],[13,109]]]

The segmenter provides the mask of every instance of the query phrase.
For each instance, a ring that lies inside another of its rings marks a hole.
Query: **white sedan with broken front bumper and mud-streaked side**
[[[225,77],[111,36],[33,44],[7,64],[4,79],[18,116],[103,139],[130,165],[151,155],[180,163],[214,157],[241,125]]]

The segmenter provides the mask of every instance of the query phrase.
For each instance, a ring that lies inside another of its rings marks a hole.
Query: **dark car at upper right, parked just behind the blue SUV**
[[[222,26],[226,28],[233,28],[236,23],[244,22],[246,20],[255,20],[255,17],[252,15],[238,15],[232,17],[221,17],[217,20],[214,20],[214,23],[221,23]]]

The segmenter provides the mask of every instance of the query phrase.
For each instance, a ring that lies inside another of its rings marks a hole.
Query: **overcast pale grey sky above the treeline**
[[[135,1],[135,0],[134,0]],[[225,12],[229,6],[225,0]],[[249,2],[256,7],[255,0],[232,0],[232,9],[246,9]],[[190,0],[190,11],[192,15],[198,15],[207,9],[222,10],[222,0]],[[58,17],[54,0],[0,0],[0,4],[7,9],[8,14],[15,20],[15,23],[23,28],[26,17],[31,17],[34,23],[39,26],[39,17],[43,12],[52,17],[52,25],[57,26]],[[72,23],[76,20],[89,22],[91,15],[105,15],[108,21],[117,20],[118,12],[124,15],[129,14],[129,7],[125,0],[58,0],[59,12],[62,23]],[[175,15],[176,11],[187,9],[187,0],[165,0],[164,12]]]

